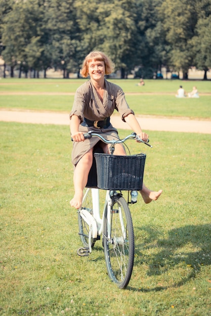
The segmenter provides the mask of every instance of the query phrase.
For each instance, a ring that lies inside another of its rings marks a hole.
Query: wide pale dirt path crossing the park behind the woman
[[[211,134],[211,121],[189,120],[187,118],[162,118],[154,116],[136,116],[143,130],[165,132],[188,132]],[[0,109],[0,121],[33,124],[69,125],[68,113],[8,111]],[[130,129],[118,115],[111,117],[111,123],[117,129]]]

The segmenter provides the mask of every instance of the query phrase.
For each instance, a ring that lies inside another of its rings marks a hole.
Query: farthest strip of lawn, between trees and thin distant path
[[[60,92],[74,93],[79,85],[88,79],[17,79],[7,78],[0,81],[0,92]],[[194,85],[199,93],[211,93],[211,81],[201,80],[145,80],[145,86],[139,87],[139,79],[108,79],[122,87],[125,93],[173,93],[183,85],[190,92]]]

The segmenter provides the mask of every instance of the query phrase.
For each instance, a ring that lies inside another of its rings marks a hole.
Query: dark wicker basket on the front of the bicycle
[[[95,153],[98,187],[104,190],[141,190],[146,154],[130,156]]]

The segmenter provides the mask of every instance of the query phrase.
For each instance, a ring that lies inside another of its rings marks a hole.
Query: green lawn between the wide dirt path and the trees
[[[85,81],[85,79],[2,79],[0,107],[69,113],[74,92]],[[137,86],[138,80],[111,81],[123,88],[129,106],[137,115],[211,119],[211,81],[146,80],[146,85],[143,87]],[[183,84],[186,91],[191,91],[195,84],[199,94],[210,93],[210,95],[202,94],[198,99],[177,99],[175,93],[180,84]]]

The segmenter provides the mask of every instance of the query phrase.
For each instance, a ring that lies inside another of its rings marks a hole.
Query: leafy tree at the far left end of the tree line
[[[11,10],[4,18],[2,41],[5,50],[2,55],[6,63],[11,66],[11,76],[16,65],[27,71],[28,60],[26,47],[31,39],[41,38],[43,17],[43,1],[28,0],[15,2]],[[20,75],[19,75],[20,76]]]

